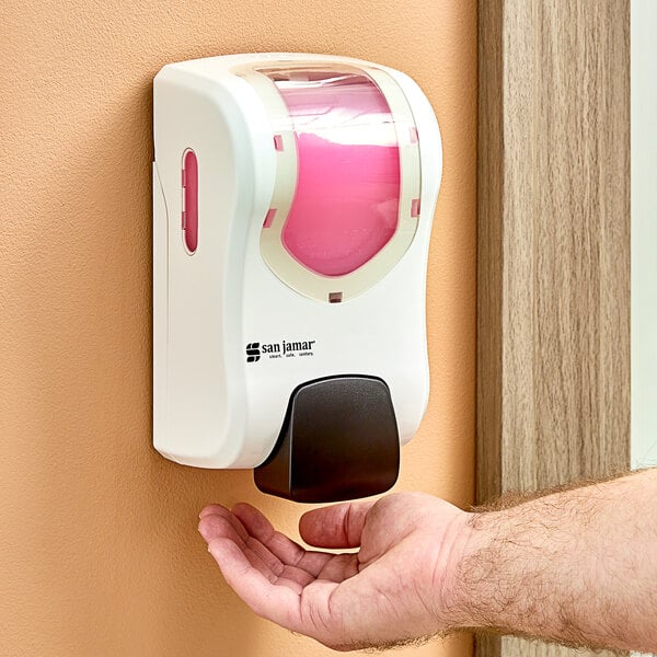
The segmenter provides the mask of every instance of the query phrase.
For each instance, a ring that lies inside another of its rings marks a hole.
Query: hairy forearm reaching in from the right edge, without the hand
[[[657,652],[657,470],[472,514],[454,624]]]

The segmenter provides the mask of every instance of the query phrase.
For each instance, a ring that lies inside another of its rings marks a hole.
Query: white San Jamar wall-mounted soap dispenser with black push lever
[[[155,448],[298,502],[387,491],[429,389],[425,95],[253,54],[165,66],[153,102]]]

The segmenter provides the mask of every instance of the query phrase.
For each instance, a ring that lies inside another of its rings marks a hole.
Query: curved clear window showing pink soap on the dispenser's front
[[[390,107],[364,74],[270,77],[289,110],[298,157],[283,243],[318,274],[349,274],[397,226],[400,153]]]

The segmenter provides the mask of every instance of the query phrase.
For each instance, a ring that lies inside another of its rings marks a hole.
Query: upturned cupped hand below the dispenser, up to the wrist
[[[385,647],[457,623],[456,569],[468,516],[422,493],[304,514],[304,550],[254,507],[210,505],[199,531],[223,577],[258,615],[338,650]]]

